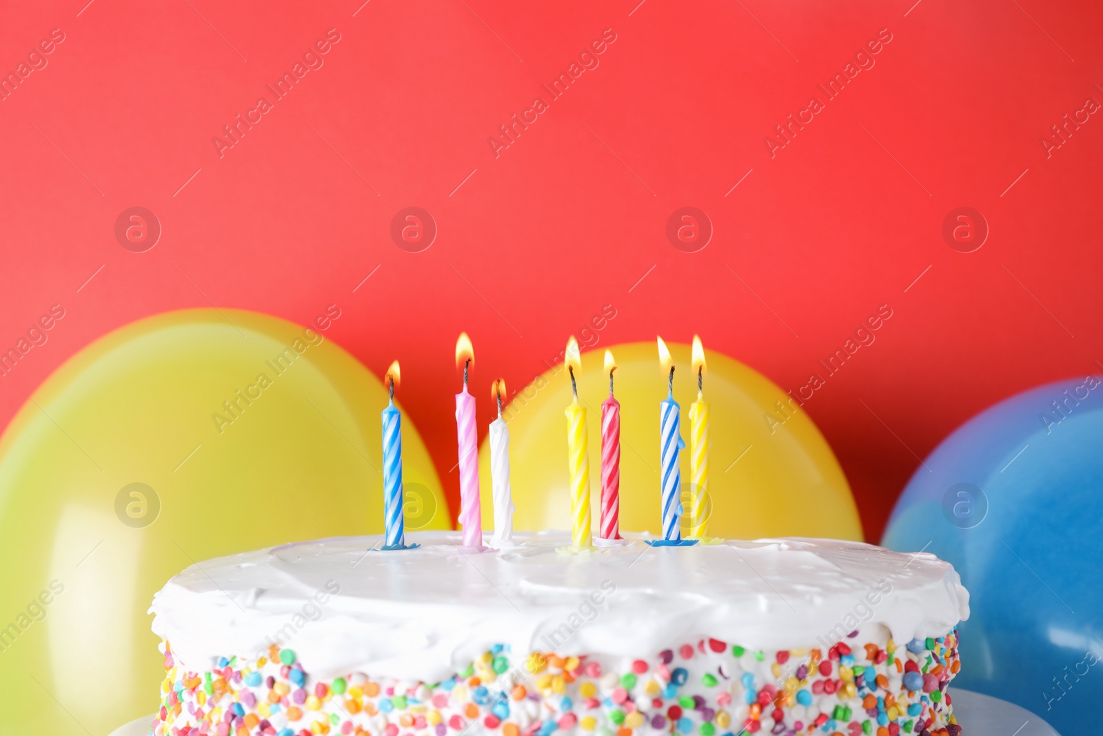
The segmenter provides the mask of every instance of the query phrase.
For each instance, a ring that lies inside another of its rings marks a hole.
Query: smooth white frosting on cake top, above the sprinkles
[[[568,534],[460,552],[456,532],[285,544],[192,565],[153,598],[153,631],[191,671],[293,649],[319,676],[437,682],[493,644],[514,652],[653,655],[705,637],[748,649],[940,637],[968,617],[953,567],[928,553],[812,538],[565,554]]]

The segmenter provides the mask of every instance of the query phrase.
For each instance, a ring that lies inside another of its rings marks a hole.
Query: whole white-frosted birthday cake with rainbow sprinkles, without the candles
[[[381,537],[192,565],[157,594],[156,736],[957,736],[968,594],[811,538],[563,554]]]

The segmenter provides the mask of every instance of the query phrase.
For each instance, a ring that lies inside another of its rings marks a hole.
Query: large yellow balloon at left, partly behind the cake
[[[159,314],[66,362],[0,439],[0,732],[156,711],[147,609],[192,563],[381,533],[386,403],[323,331],[248,311]],[[405,417],[403,440],[407,529],[450,529]]]

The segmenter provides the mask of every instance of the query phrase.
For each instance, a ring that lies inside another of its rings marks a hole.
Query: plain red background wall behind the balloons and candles
[[[1103,102],[1097,3],[85,1],[0,23],[0,70],[65,34],[0,102],[0,346],[66,310],[0,378],[3,423],[141,317],[214,303],[307,322],[336,303],[329,337],[377,373],[403,361],[456,499],[460,330],[478,383],[520,388],[612,305],[599,344],[699,332],[795,390],[889,305],[805,405],[876,541],[960,423],[1101,367],[1103,120],[1049,158],[1041,143]],[[223,126],[333,28],[324,65],[219,157]],[[604,29],[600,65],[550,102],[542,83]],[[881,29],[876,65],[825,102],[816,85]],[[495,158],[488,139],[537,95],[549,109]],[[771,158],[765,137],[813,95],[825,109]],[[146,253],[114,235],[133,205],[163,227]],[[439,228],[418,254],[389,235],[409,205]],[[715,228],[693,254],[665,234],[685,205]],[[990,227],[974,253],[942,237],[959,206]]]

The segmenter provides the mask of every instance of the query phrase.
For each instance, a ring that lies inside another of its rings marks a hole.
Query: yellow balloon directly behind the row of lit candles
[[[689,404],[697,398],[689,345],[667,343],[681,404],[683,535],[688,531]],[[621,404],[620,527],[661,535],[658,404],[666,375],[654,342],[613,345]],[[591,527],[600,529],[601,403],[609,396],[604,349],[582,354],[578,396],[588,408]],[[705,351],[704,399],[710,408],[707,535],[729,538],[825,536],[861,540],[861,522],[843,469],[823,435],[769,378],[727,355]],[[570,380],[561,365],[514,394],[510,429],[514,529],[570,529],[567,419]],[[781,402],[779,408],[778,402]],[[782,412],[781,409],[784,409]],[[788,416],[788,418],[785,418]],[[772,419],[768,420],[768,417]],[[480,448],[483,527],[493,527],[490,447]]]

